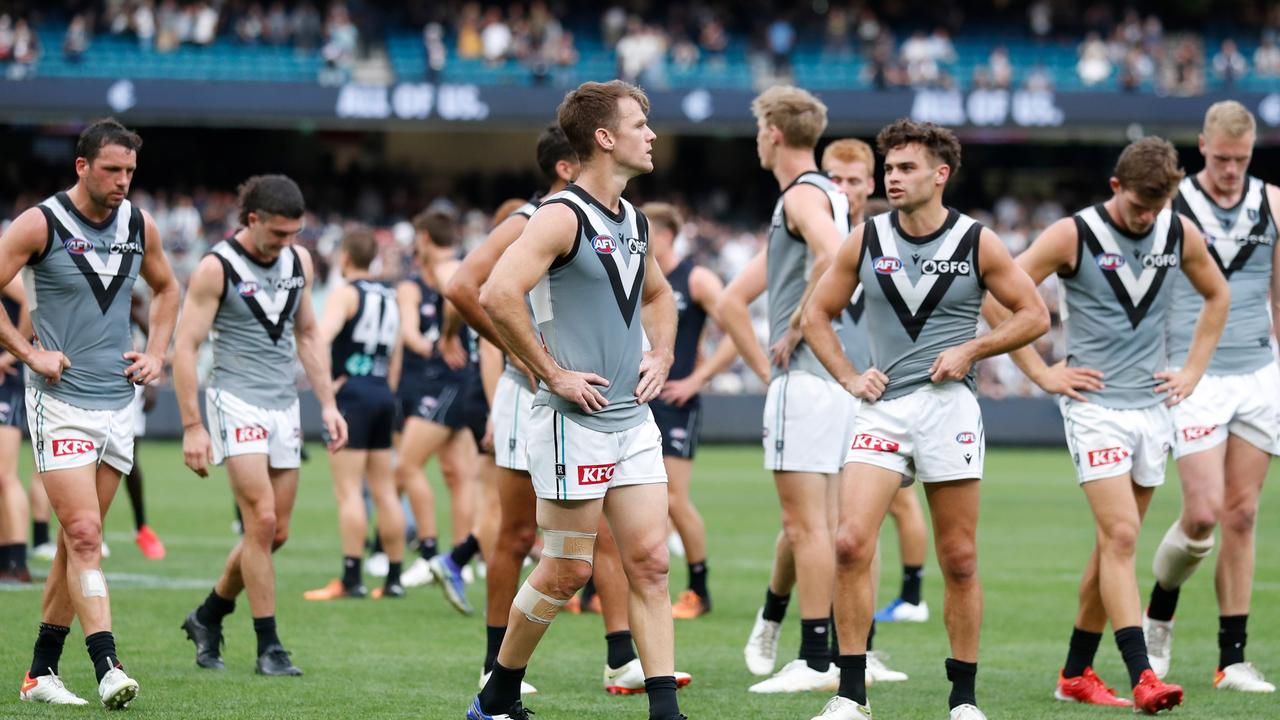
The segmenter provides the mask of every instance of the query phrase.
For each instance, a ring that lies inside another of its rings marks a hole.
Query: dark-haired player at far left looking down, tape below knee
[[[138,694],[111,633],[102,519],[133,464],[134,386],[164,370],[179,295],[155,220],[125,200],[141,146],[142,138],[114,119],[90,124],[76,145],[76,186],[24,211],[0,238],[0,284],[23,269],[40,338],[32,347],[5,314],[0,346],[31,368],[26,411],[36,471],[61,524],[23,701],[84,703],[58,679],[73,618],[84,632],[102,705],[122,708]],[[154,332],[142,352],[129,333],[138,275],[154,297]]]

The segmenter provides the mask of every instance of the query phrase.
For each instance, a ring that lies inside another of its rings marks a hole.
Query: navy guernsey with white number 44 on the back
[[[396,291],[378,281],[351,283],[360,296],[356,314],[342,325],[333,341],[333,377],[347,383],[387,382],[392,351],[399,333]]]

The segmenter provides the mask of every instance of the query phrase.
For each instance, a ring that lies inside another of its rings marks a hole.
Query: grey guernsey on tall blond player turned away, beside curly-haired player
[[[840,231],[840,237],[849,234],[849,199],[836,187],[836,183],[819,173],[810,170],[801,173],[791,181],[791,184],[782,191],[777,204],[773,206],[773,218],[769,223],[768,238],[768,288],[769,288],[769,346],[782,340],[791,323],[800,300],[804,297],[804,288],[809,283],[809,274],[813,270],[813,252],[803,237],[787,229],[787,215],[782,205],[782,199],[787,191],[797,184],[812,184],[827,193],[831,202],[831,217]],[[837,324],[838,329],[838,324]],[[795,351],[791,352],[791,370],[804,370],[831,380],[831,373],[822,365],[818,356],[808,343],[800,341]],[[783,374],[786,370],[773,366],[773,377]]]

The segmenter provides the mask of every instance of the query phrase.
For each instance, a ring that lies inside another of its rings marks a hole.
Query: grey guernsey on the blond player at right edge
[[[1174,210],[1187,215],[1204,234],[1208,254],[1231,286],[1231,310],[1208,372],[1219,375],[1252,373],[1275,363],[1271,355],[1271,261],[1276,223],[1267,202],[1267,184],[1249,177],[1240,201],[1220,208],[1194,176],[1183,178]],[[1174,278],[1169,309],[1169,364],[1181,366],[1196,334],[1203,299],[1187,275]]]

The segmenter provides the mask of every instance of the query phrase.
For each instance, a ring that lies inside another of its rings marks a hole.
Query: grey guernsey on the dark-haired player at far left
[[[27,382],[77,407],[119,410],[133,401],[124,354],[133,350],[129,305],[146,250],[142,211],[124,200],[95,223],[65,192],[38,208],[49,237],[22,272],[27,304],[40,346],[72,366],[56,383],[28,369]]]

